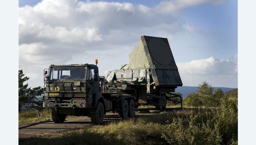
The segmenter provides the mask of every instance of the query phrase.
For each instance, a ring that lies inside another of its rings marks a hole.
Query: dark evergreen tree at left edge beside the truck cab
[[[36,97],[43,93],[41,86],[31,89],[28,88],[28,83],[24,85],[24,82],[29,80],[29,77],[24,76],[23,71],[19,70],[19,111],[37,108],[41,102],[36,101]]]

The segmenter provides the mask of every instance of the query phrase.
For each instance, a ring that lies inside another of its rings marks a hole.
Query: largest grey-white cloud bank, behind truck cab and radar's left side
[[[186,26],[178,17],[159,14],[157,7],[42,0],[19,8],[19,69],[31,75],[31,86],[43,84],[43,69],[50,64],[94,64],[98,59],[99,73],[104,75],[105,70],[128,63],[141,35],[170,42],[184,31],[199,30]]]

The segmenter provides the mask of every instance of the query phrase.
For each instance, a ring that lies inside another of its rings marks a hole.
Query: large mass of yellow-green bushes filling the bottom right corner
[[[221,91],[220,91],[221,94]],[[216,109],[193,109],[188,116],[174,116],[162,138],[169,144],[238,144],[237,99],[222,98]],[[179,113],[179,111],[177,112]]]

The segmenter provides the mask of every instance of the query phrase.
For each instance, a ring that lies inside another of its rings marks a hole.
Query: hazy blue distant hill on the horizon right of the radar
[[[225,87],[214,87],[214,91],[216,89],[221,89],[224,93],[234,90],[235,88],[225,88]],[[183,98],[186,98],[188,94],[195,92],[198,90],[198,87],[189,87],[189,86],[182,86],[175,89],[175,92],[180,92]]]

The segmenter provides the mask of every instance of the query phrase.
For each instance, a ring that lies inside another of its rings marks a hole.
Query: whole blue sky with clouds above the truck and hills
[[[19,69],[43,86],[51,64],[128,64],[140,36],[168,38],[183,86],[238,87],[238,3],[19,0]]]

